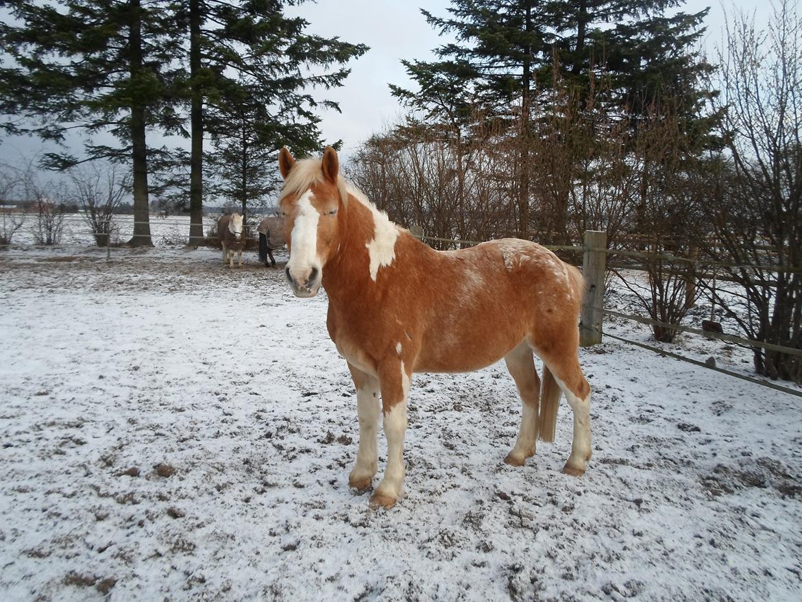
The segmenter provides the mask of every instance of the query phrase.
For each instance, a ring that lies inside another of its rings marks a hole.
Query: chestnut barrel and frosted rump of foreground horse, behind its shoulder
[[[547,323],[576,329],[581,275],[535,242],[505,238],[421,259],[419,299],[410,299],[423,318],[415,372],[491,364]]]

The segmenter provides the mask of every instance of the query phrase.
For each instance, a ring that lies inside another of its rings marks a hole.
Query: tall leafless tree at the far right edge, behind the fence
[[[753,340],[802,348],[802,18],[777,0],[768,28],[735,14],[720,52],[727,109],[717,196],[707,219],[717,244],[705,251],[743,287],[729,315]],[[772,267],[776,266],[776,267]],[[723,299],[716,299],[723,303]],[[755,370],[802,381],[802,358],[753,348]]]

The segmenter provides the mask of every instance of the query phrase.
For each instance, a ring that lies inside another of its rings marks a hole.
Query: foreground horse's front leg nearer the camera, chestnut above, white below
[[[402,494],[406,474],[403,439],[407,432],[407,397],[411,376],[411,368],[407,368],[401,360],[386,360],[379,365],[384,436],[387,437],[387,467],[382,482],[371,496],[371,506],[391,508]]]

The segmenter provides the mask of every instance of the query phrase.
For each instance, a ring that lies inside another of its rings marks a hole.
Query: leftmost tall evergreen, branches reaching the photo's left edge
[[[133,172],[132,245],[152,244],[148,224],[148,128],[175,131],[168,102],[174,25],[166,4],[140,0],[0,0],[13,21],[0,25],[0,112],[19,116],[2,128],[63,143],[67,132],[87,138],[85,157],[50,153],[67,169],[97,158],[130,161]],[[111,132],[119,146],[94,144]]]

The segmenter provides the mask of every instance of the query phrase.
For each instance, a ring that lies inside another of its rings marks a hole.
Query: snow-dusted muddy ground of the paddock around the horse
[[[512,468],[503,364],[416,375],[407,497],[371,510],[325,295],[281,269],[15,248],[0,299],[0,600],[802,600],[798,397],[608,340],[571,478],[565,401]]]

